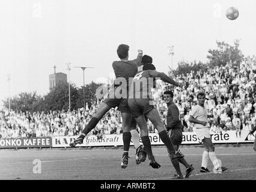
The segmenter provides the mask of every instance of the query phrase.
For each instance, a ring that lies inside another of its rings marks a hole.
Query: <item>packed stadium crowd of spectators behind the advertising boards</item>
[[[163,92],[174,92],[174,103],[180,110],[183,131],[193,131],[194,124],[189,119],[190,110],[197,104],[197,93],[206,92],[205,107],[210,118],[209,128],[212,132],[236,130],[237,137],[241,130],[252,130],[256,126],[256,58],[244,59],[239,67],[228,63],[225,67],[215,67],[208,71],[191,71],[175,76],[174,80],[183,79],[184,87],[173,88],[157,80],[156,89],[152,90],[154,101],[165,124],[166,104]],[[96,112],[100,101],[88,107],[65,111],[44,112],[0,112],[0,139],[19,137],[76,136]],[[121,117],[117,109],[111,109],[91,131],[97,137],[103,134],[120,134]],[[139,129],[139,128],[138,128]],[[148,131],[157,130],[148,121]]]

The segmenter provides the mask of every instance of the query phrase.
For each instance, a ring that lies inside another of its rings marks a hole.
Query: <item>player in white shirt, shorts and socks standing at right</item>
[[[227,168],[221,166],[221,161],[217,159],[215,154],[215,147],[212,143],[210,130],[207,127],[207,118],[211,118],[213,115],[207,115],[207,110],[204,107],[204,101],[206,100],[206,94],[204,92],[199,92],[197,94],[198,104],[193,107],[190,112],[189,122],[195,124],[195,133],[198,136],[198,139],[203,141],[204,144],[204,152],[203,152],[203,159],[201,164],[200,172],[207,173],[210,172],[207,169],[207,163],[210,157],[210,160],[215,167],[213,169],[213,173],[222,173]]]

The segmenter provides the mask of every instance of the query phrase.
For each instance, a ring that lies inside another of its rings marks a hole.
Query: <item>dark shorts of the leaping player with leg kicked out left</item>
[[[118,107],[117,110],[119,110],[121,113],[131,113],[128,106],[127,98],[116,98],[113,94],[113,91],[115,90],[109,90],[109,92],[105,95],[103,102],[106,103],[109,107]],[[114,96],[114,98],[111,98],[112,96]]]

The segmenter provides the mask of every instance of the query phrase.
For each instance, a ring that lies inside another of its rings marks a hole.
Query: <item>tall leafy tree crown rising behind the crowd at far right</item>
[[[232,63],[234,66],[239,66],[242,62],[243,54],[239,49],[239,40],[234,41],[234,46],[225,43],[224,41],[216,41],[218,49],[209,49],[207,58],[209,59],[210,67],[225,66]]]

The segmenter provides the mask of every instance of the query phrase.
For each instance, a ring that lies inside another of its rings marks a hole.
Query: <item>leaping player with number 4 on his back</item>
[[[181,86],[181,84],[172,80],[165,73],[157,72],[153,64],[147,64],[144,65],[143,71],[138,72],[135,77],[133,77],[128,98],[130,111],[141,129],[141,140],[145,151],[147,152],[148,159],[150,160],[150,166],[154,169],[158,169],[160,164],[156,162],[152,153],[151,143],[148,137],[147,122],[145,121],[144,115],[147,116],[157,128],[159,137],[168,148],[172,159],[184,157],[184,155],[175,151],[171,139],[169,139],[165,127],[163,127],[159,112],[154,107],[151,88],[156,85],[156,77],[159,77],[164,82],[171,83],[172,85]]]

